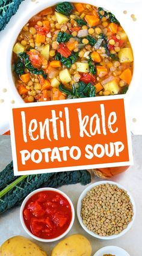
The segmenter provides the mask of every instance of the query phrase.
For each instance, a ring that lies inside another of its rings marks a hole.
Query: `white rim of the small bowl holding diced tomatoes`
[[[71,207],[71,210],[72,210],[72,220],[71,220],[70,225],[69,225],[69,227],[67,228],[67,230],[66,230],[63,234],[61,234],[60,236],[55,237],[55,238],[52,238],[52,239],[43,239],[43,238],[37,237],[36,235],[33,235],[33,234],[29,231],[29,229],[26,228],[25,222],[24,222],[24,220],[23,220],[23,209],[24,209],[24,207],[25,207],[26,202],[29,200],[29,198],[31,198],[31,196],[33,196],[34,194],[36,194],[36,193],[38,193],[38,192],[41,192],[41,191],[42,191],[42,192],[43,192],[43,191],[55,191],[55,192],[61,194],[62,196],[64,196],[64,197],[68,200],[68,202],[69,202],[69,204],[70,204],[70,207]],[[63,193],[62,191],[57,190],[56,188],[39,188],[38,190],[34,190],[34,191],[32,191],[30,194],[28,194],[28,196],[25,197],[25,199],[24,199],[23,202],[22,202],[22,205],[20,206],[20,222],[22,223],[23,229],[25,229],[25,231],[26,231],[26,233],[27,233],[28,235],[30,235],[32,238],[34,238],[34,239],[36,239],[36,240],[38,240],[38,241],[40,241],[40,242],[46,242],[46,243],[47,243],[47,242],[55,242],[55,241],[57,241],[57,240],[63,238],[65,235],[67,235],[67,233],[68,233],[68,232],[70,231],[70,229],[72,228],[72,225],[73,225],[74,220],[75,220],[75,210],[74,210],[72,201],[70,200],[69,196],[67,196],[67,195],[66,195],[65,193]]]

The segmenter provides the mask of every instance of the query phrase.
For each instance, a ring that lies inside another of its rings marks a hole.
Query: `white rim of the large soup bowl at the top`
[[[25,7],[25,10],[23,11],[23,14],[19,16],[18,22],[14,24],[13,27],[13,33],[11,36],[11,40],[8,45],[8,51],[7,51],[7,75],[8,75],[8,83],[11,87],[11,90],[13,91],[13,94],[15,95],[15,99],[19,103],[24,103],[22,98],[20,97],[19,93],[17,92],[16,86],[14,85],[13,81],[13,75],[11,72],[11,56],[12,56],[12,50],[13,45],[17,39],[18,34],[20,33],[20,30],[22,29],[23,25],[26,24],[26,22],[29,21],[29,19],[34,16],[35,14],[39,13],[39,11],[44,10],[45,8],[48,8],[52,5],[58,4],[58,0],[49,0],[47,1],[39,1],[37,4],[33,4],[32,2],[32,8],[30,8],[28,5]],[[136,90],[138,84],[140,83],[140,51],[137,47],[137,42],[135,41],[135,37],[132,33],[132,27],[129,25],[129,22],[126,22],[126,16],[124,16],[123,11],[120,11],[117,2],[112,1],[105,1],[105,0],[95,0],[92,2],[92,0],[68,0],[68,2],[83,2],[87,4],[94,4],[97,7],[103,7],[107,10],[110,10],[113,14],[116,15],[116,18],[120,21],[120,24],[128,34],[129,40],[132,45],[132,50],[134,53],[134,73],[132,76],[131,85],[129,85],[129,90],[126,93],[126,98],[128,100],[131,100],[132,95],[134,95],[134,91]],[[118,3],[119,4],[119,3]],[[30,5],[31,6],[31,5]]]

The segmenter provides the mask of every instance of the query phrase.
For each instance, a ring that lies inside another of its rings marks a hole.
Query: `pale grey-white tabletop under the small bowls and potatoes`
[[[142,227],[142,136],[134,136],[132,138],[133,141],[133,152],[134,152],[134,166],[130,167],[128,171],[123,174],[117,175],[115,178],[113,177],[111,180],[119,182],[124,187],[126,187],[134,196],[135,203],[137,206],[137,216],[132,226],[131,230],[125,234],[123,237],[117,238],[116,240],[110,241],[101,241],[97,240],[90,235],[88,235],[79,225],[77,217],[75,218],[75,223],[73,225],[72,230],[69,234],[80,233],[85,235],[91,242],[93,248],[93,254],[98,249],[103,246],[115,245],[120,246],[131,256],[141,256],[142,255],[142,246],[141,246],[141,227]],[[10,148],[10,138],[9,136],[0,136],[0,171],[11,161],[11,148]],[[98,178],[94,178],[92,182],[99,181]],[[76,208],[76,203],[79,195],[82,190],[84,190],[84,186],[79,184],[76,185],[68,185],[63,186],[60,189],[64,191]],[[13,210],[3,214],[0,217],[0,245],[7,238],[14,235],[26,235],[25,231],[23,231],[22,226],[20,225],[19,219],[19,208],[14,208]],[[39,243],[45,251],[50,256],[50,252],[56,243]],[[92,254],[92,255],[93,255]],[[121,256],[121,255],[117,255]]]

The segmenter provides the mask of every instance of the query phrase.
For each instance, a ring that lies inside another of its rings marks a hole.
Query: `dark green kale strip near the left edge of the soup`
[[[42,69],[37,69],[32,66],[29,56],[26,53],[19,53],[17,56],[20,58],[20,62],[23,64],[25,68],[27,68],[31,73],[36,75],[42,75],[44,78],[46,78],[46,74]]]

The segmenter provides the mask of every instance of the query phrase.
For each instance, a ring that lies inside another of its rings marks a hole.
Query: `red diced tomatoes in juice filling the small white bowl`
[[[55,238],[63,234],[72,220],[72,210],[66,197],[55,191],[41,191],[28,200],[23,209],[25,225],[40,238]]]

